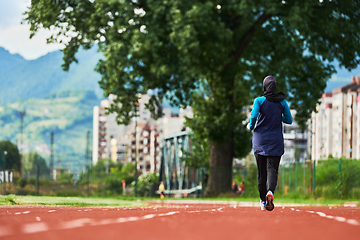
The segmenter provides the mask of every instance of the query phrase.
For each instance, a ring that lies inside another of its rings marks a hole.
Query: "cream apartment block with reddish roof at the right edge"
[[[360,76],[324,93],[311,118],[311,158],[360,158]]]

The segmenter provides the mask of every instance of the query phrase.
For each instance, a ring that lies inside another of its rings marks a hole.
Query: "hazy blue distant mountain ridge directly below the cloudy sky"
[[[100,75],[94,71],[101,58],[97,48],[79,50],[68,72],[61,68],[63,53],[51,52],[35,60],[25,60],[0,48],[0,103],[11,103],[18,99],[42,98],[50,93],[66,90],[91,90],[102,95],[98,81]]]

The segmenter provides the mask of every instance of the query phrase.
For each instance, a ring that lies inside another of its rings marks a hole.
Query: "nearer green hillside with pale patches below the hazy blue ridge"
[[[0,140],[20,145],[19,111],[25,110],[24,153],[37,151],[48,160],[53,132],[55,159],[59,156],[62,162],[73,164],[84,161],[86,133],[92,131],[92,111],[98,104],[99,99],[93,91],[78,90],[0,105]]]

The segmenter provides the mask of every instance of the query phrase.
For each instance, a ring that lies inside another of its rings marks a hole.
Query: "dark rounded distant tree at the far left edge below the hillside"
[[[17,146],[10,141],[1,141],[0,150],[4,151],[5,169],[20,171],[20,153]]]

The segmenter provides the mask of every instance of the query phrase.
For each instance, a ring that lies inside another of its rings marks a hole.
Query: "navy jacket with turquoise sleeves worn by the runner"
[[[284,154],[282,122],[291,124],[292,121],[285,100],[272,102],[264,96],[256,98],[249,126],[249,129],[253,130],[256,123],[253,132],[254,153],[263,156],[282,156]]]

